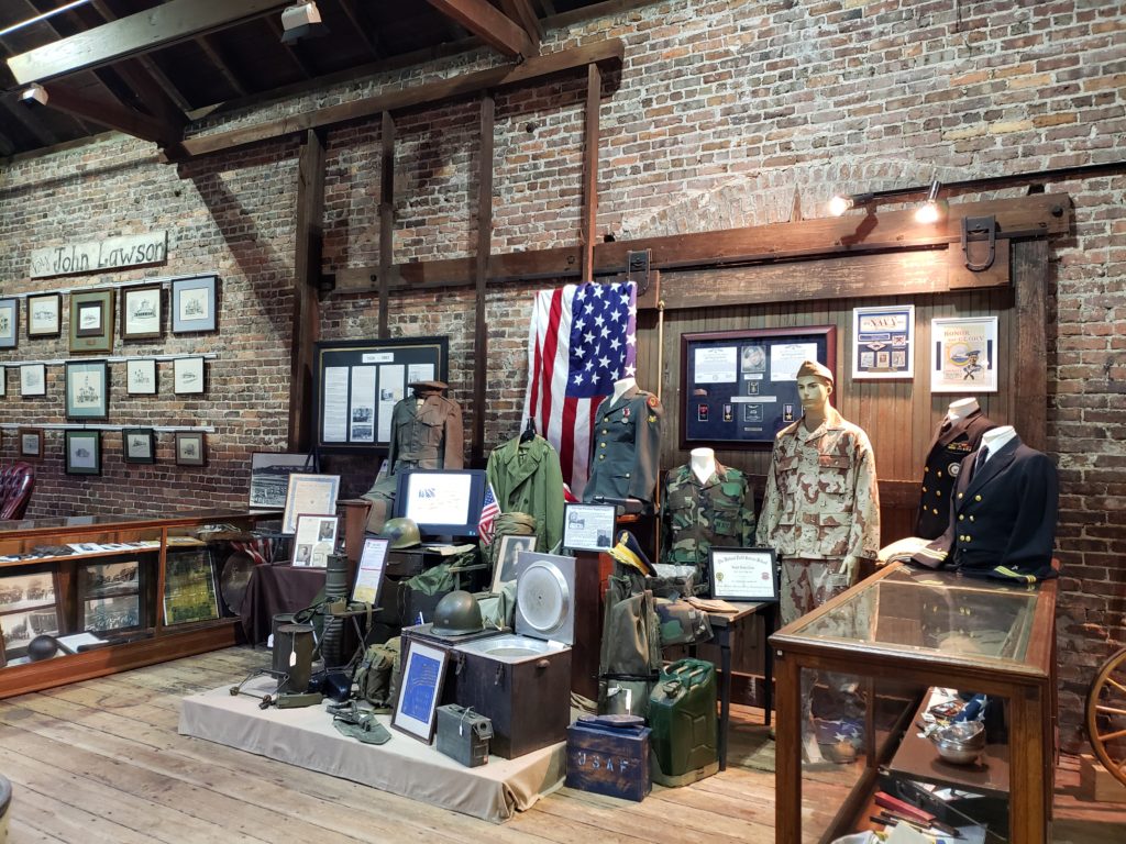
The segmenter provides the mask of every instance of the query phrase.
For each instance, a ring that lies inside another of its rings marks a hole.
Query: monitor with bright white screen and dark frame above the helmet
[[[411,469],[395,475],[395,515],[422,533],[475,537],[485,497],[484,469]]]

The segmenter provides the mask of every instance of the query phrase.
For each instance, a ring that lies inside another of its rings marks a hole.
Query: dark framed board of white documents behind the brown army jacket
[[[373,451],[391,441],[391,413],[406,385],[446,380],[449,338],[320,342],[314,363],[318,448]]]

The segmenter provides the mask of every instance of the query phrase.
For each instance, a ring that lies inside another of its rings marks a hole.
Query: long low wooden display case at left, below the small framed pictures
[[[239,619],[224,617],[218,600],[214,613],[196,614],[191,607],[184,609],[181,600],[179,614],[189,620],[170,622],[168,599],[175,604],[176,596],[175,590],[166,596],[166,583],[176,566],[169,564],[178,554],[215,547],[206,541],[206,531],[200,539],[205,526],[245,531],[260,519],[276,518],[276,513],[207,510],[166,518],[0,522],[0,630],[9,631],[7,646],[0,641],[0,654],[8,654],[7,659],[0,657],[0,698],[234,645]],[[120,547],[107,549],[107,545]],[[135,563],[136,572],[123,563]],[[218,571],[209,572],[209,586],[207,574],[197,580],[217,599]],[[107,581],[111,581],[108,586]],[[95,635],[107,644],[41,662],[24,661],[25,639],[54,631],[65,637],[90,627],[97,627]]]

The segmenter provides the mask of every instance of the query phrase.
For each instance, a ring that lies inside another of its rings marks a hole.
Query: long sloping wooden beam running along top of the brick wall
[[[598,62],[599,64],[620,63],[624,55],[624,44],[617,38],[611,38],[582,47],[574,47],[573,50],[563,50],[557,53],[536,56],[520,64],[507,64],[500,68],[477,71],[476,73],[466,73],[462,77],[430,82],[417,88],[365,97],[351,102],[342,102],[339,106],[318,108],[312,111],[283,117],[256,126],[193,137],[184,142],[180,156],[195,158],[198,155],[208,155],[224,150],[245,146],[247,144],[295,135],[311,128],[325,128],[348,123],[349,120],[372,117],[381,111],[400,111],[408,108],[418,108],[456,97],[479,93],[488,89],[497,90],[524,84],[556,73],[565,73],[578,68],[586,68],[592,62]],[[172,156],[169,160],[176,161],[179,158]]]

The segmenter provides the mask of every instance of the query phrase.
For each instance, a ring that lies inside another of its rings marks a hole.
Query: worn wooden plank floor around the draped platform
[[[248,648],[0,701],[0,773],[26,842],[772,842],[774,776],[741,767],[641,803],[563,789],[501,826],[177,734],[180,698],[265,664]],[[744,725],[742,733],[753,733]],[[1057,842],[1126,841],[1126,805],[1061,772]]]

